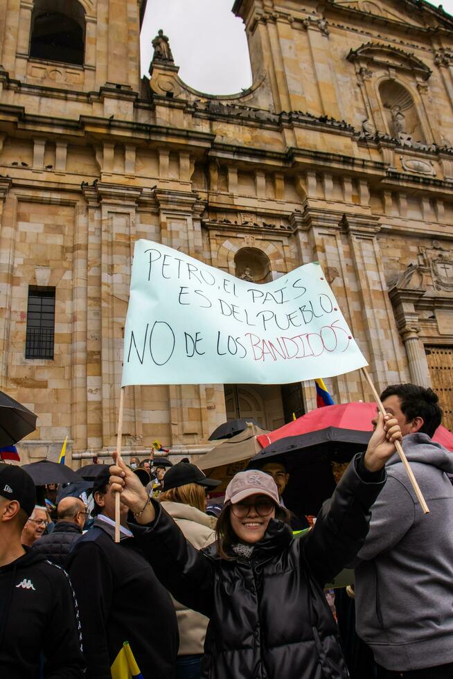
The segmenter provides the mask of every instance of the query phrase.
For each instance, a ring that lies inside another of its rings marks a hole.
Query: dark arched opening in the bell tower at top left
[[[77,0],[35,0],[30,57],[83,65],[85,10]]]

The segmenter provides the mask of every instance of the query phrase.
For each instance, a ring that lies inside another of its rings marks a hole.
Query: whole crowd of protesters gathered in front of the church
[[[128,642],[143,679],[452,679],[442,411],[414,385],[382,401],[313,525],[285,507],[278,458],[237,473],[218,516],[206,502],[220,482],[188,459],[114,456],[89,495],[51,487],[42,505],[25,470],[1,465],[0,677],[110,679]],[[346,567],[335,620],[323,590]]]

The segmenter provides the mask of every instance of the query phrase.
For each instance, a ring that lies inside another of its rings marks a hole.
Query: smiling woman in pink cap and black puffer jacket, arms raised
[[[322,588],[361,547],[384,464],[401,438],[396,419],[380,415],[366,452],[299,540],[274,480],[259,470],[238,473],[227,488],[217,543],[202,552],[118,459],[112,491],[133,513],[131,529],[154,572],[175,599],[210,618],[204,679],[348,677]]]

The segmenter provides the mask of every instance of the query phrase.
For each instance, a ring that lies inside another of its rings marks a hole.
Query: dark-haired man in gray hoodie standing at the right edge
[[[430,513],[396,453],[355,561],[357,634],[374,653],[379,679],[452,679],[453,453],[431,439],[442,419],[432,389],[396,385],[381,400],[398,420]]]

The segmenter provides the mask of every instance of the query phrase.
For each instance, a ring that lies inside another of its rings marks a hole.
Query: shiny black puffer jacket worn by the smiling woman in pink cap
[[[272,520],[248,560],[197,552],[159,506],[150,527],[132,527],[173,596],[210,618],[204,679],[348,677],[322,587],[358,552],[384,486],[384,473],[365,483],[357,468],[359,458],[307,536]]]

